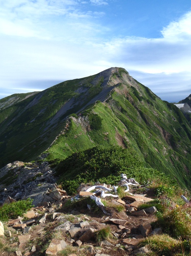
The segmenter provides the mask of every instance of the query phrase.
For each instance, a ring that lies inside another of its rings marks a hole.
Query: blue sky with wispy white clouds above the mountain
[[[161,99],[191,94],[190,0],[0,0],[0,98],[118,66]]]

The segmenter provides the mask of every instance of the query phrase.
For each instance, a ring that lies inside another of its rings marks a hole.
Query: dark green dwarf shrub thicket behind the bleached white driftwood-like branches
[[[139,155],[119,146],[93,147],[74,153],[61,161],[56,168],[68,193],[75,193],[81,183],[97,182],[115,185],[120,180],[120,173],[134,177],[139,183],[157,178],[167,184],[174,184],[169,177],[152,168],[145,168]]]

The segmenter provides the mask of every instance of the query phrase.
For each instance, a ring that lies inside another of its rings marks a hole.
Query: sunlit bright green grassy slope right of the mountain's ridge
[[[95,104],[92,112],[102,118],[99,130],[84,128],[76,119],[70,119],[70,129],[48,150],[47,159],[65,159],[94,145],[117,145],[118,133],[123,145],[136,150],[146,167],[170,174],[181,185],[190,186],[191,129],[186,119],[173,104],[161,101],[141,84],[139,87],[140,92],[135,93],[124,82],[113,91],[107,103]],[[126,96],[124,88],[128,90]]]

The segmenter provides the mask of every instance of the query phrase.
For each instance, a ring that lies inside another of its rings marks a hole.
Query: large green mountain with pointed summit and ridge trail
[[[8,101],[0,100],[1,167],[39,155],[50,162],[95,145],[120,145],[138,152],[146,167],[191,186],[191,126],[174,104],[123,68]]]

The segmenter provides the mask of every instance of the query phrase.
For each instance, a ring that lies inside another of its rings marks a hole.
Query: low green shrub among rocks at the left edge
[[[8,219],[14,219],[18,216],[23,216],[26,211],[32,208],[32,200],[19,200],[10,204],[4,204],[0,207],[0,220],[6,221]]]

